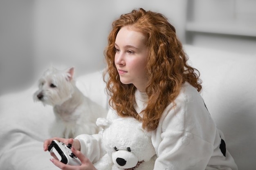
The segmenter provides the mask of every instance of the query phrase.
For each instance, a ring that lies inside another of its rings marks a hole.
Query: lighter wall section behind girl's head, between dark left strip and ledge
[[[185,0],[37,0],[36,68],[52,62],[74,65],[78,73],[103,67],[103,49],[111,23],[122,13],[143,7],[164,13],[184,39]]]

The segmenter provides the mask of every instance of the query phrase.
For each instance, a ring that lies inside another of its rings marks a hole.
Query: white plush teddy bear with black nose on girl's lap
[[[102,142],[106,154],[94,163],[98,170],[153,170],[155,148],[151,133],[144,130],[137,119],[98,118],[96,124],[103,128]]]

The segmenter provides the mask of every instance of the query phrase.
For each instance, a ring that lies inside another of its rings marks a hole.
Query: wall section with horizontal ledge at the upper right
[[[187,42],[256,55],[256,0],[188,0]]]

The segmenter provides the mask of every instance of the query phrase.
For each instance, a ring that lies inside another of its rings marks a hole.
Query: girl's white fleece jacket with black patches
[[[135,110],[141,113],[147,95],[136,91],[135,99]],[[184,83],[175,104],[175,108],[173,104],[166,107],[152,133],[157,154],[154,170],[237,170],[234,159],[225,149],[224,135],[216,127],[198,91]],[[118,116],[110,109],[107,118]],[[81,152],[92,163],[105,154],[101,132],[79,135],[76,139],[81,143]]]

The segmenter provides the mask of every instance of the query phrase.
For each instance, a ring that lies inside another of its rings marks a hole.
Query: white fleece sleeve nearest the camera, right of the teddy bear
[[[199,94],[181,92],[159,121],[153,136],[155,169],[205,170],[214,150],[216,124]]]

